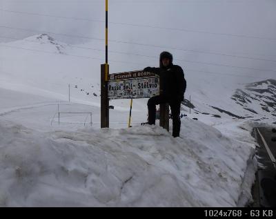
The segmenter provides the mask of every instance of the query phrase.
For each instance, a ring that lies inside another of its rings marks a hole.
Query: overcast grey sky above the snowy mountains
[[[0,0],[0,37],[24,38],[39,32],[52,32],[52,37],[68,44],[88,41],[80,37],[54,35],[55,32],[103,39],[104,23],[101,21],[105,19],[104,2],[105,0]],[[110,39],[165,47],[130,44],[118,47],[117,43],[110,43],[110,49],[119,48],[126,53],[156,56],[161,50],[169,50],[177,59],[276,70],[275,11],[275,0],[110,0],[110,22],[114,22],[110,23]],[[0,38],[0,41],[10,40]],[[100,41],[99,44],[103,42]],[[208,52],[271,61],[212,55]],[[129,56],[121,59],[144,60]],[[276,79],[276,72],[175,62],[184,68]],[[150,64],[157,65],[157,61],[152,60]]]

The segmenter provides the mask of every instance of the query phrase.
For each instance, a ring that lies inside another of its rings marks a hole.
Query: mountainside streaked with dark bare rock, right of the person
[[[225,103],[225,105],[223,106],[221,103]],[[230,108],[228,107],[229,103],[232,105]],[[276,117],[276,81],[267,79],[240,86],[233,92],[230,99],[221,96],[221,101],[217,104],[209,104],[206,101],[196,105],[185,99],[184,105],[191,107],[196,114],[271,122]],[[202,109],[202,105],[206,105],[206,108]]]

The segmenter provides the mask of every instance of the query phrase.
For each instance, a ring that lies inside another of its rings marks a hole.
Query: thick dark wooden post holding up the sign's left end
[[[109,99],[108,80],[106,80],[106,64],[101,65],[101,128],[109,128]]]

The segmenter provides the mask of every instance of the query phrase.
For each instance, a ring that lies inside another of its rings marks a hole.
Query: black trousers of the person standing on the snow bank
[[[179,137],[181,120],[180,120],[180,107],[181,101],[173,100],[164,95],[151,97],[148,100],[148,124],[155,124],[156,119],[156,105],[169,104],[172,113],[172,136]]]

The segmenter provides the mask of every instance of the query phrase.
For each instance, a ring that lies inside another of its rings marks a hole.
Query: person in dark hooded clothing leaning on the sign
[[[148,100],[148,124],[155,124],[156,105],[169,104],[172,115],[172,136],[179,137],[181,120],[180,108],[184,101],[186,91],[186,79],[180,66],[172,64],[172,54],[163,52],[160,54],[160,67],[147,67],[144,72],[152,72],[160,77],[160,95]]]

